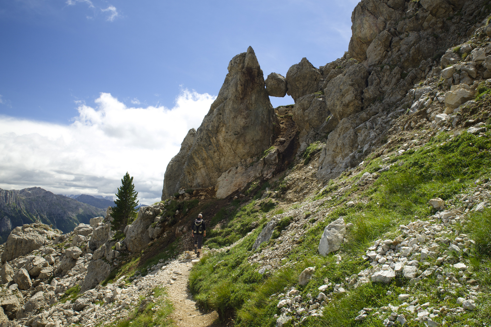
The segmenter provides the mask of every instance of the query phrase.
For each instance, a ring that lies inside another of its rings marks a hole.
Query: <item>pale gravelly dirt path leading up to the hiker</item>
[[[195,259],[194,254],[192,254],[192,259]],[[171,314],[171,318],[176,321],[179,327],[224,326],[218,323],[218,313],[216,311],[205,312],[193,300],[188,288],[191,266],[191,262],[178,262],[176,260],[170,265],[169,268],[171,269],[167,271],[168,279],[171,280],[171,277],[177,278],[172,280],[173,284],[166,285],[169,299],[174,304],[174,312]]]

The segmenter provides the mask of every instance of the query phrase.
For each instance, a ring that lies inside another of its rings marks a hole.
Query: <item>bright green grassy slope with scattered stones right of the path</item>
[[[316,270],[309,284],[300,287],[302,296],[308,293],[316,296],[319,293],[317,286],[322,285],[326,277],[333,283],[344,282],[346,277],[357,274],[368,267],[368,263],[363,261],[360,255],[370,245],[370,242],[382,236],[394,235],[399,224],[413,221],[415,215],[425,219],[426,216],[432,214],[432,210],[427,205],[429,199],[438,196],[447,202],[452,201],[456,194],[473,186],[476,179],[489,174],[491,167],[489,133],[485,137],[464,133],[452,139],[448,138],[447,134],[442,133],[433,138],[424,148],[417,151],[409,150],[403,155],[391,158],[387,163],[398,160],[404,162],[404,165],[396,164],[389,171],[381,173],[375,183],[368,188],[363,189],[355,185],[340,198],[327,200],[323,205],[332,207],[332,213],[324,220],[319,219],[317,224],[309,226],[308,232],[300,239],[300,244],[292,249],[290,257],[285,260],[285,262],[297,262],[296,265],[285,266],[269,277],[263,277],[257,273],[259,267],[250,265],[247,257],[253,254],[252,244],[260,231],[261,226],[259,226],[254,233],[245,237],[239,246],[215,256],[203,258],[191,273],[191,291],[199,302],[217,309],[221,317],[235,316],[236,326],[274,326],[273,315],[280,312],[275,306],[277,299],[270,300],[270,296],[282,292],[284,287],[298,286],[298,276],[304,268],[322,267]],[[380,158],[372,158],[370,164],[361,173],[356,176],[340,176],[339,179],[344,179],[347,183],[354,183],[363,172],[372,173],[380,170],[381,164]],[[338,183],[333,183],[317,198],[327,198],[338,187]],[[353,195],[358,196],[362,201],[347,208],[343,203]],[[254,213],[247,211],[247,208],[248,206],[243,207],[242,215],[232,216],[227,224],[236,226],[241,221],[251,220],[250,217]],[[313,215],[315,216],[315,213]],[[348,243],[344,244],[340,250],[343,256],[353,257],[353,259],[343,260],[341,264],[336,264],[332,254],[326,258],[319,256],[317,246],[324,227],[340,215],[346,216],[347,222],[355,224],[355,228],[348,233]],[[489,274],[491,270],[489,263],[490,217],[490,211],[473,215],[472,223],[466,231],[477,242],[476,256],[470,260],[476,273],[475,278],[479,280],[484,293],[489,289],[491,282]],[[262,226],[265,221],[266,219],[261,221]],[[487,223],[483,224],[483,222]],[[214,238],[220,237],[218,236],[219,231],[215,233]],[[264,246],[267,245],[263,244]],[[397,302],[397,295],[406,292],[406,287],[408,287],[408,281],[403,279],[398,279],[390,285],[370,283],[359,287],[350,291],[348,296],[340,297],[339,301],[333,302],[334,304],[329,304],[324,311],[324,317],[309,318],[306,326],[360,324],[381,326],[382,321],[375,317],[363,323],[355,322],[354,318],[363,307],[380,307]],[[386,295],[388,290],[392,291],[392,295]],[[440,298],[439,294],[436,294],[435,280],[431,278],[418,284],[418,288],[412,289],[412,292],[421,294],[420,297],[430,295],[429,298],[431,298],[433,295],[436,299]],[[450,294],[445,305],[455,306],[455,299],[458,296]],[[480,308],[473,313],[456,316],[452,324],[455,326],[472,325],[473,319],[478,322],[486,321],[486,315],[491,313],[490,299],[483,298]],[[467,319],[471,320],[467,321]],[[411,324],[415,323],[411,321]]]

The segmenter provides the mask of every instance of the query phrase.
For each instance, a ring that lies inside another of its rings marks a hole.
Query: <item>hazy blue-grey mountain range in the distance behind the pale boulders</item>
[[[105,215],[106,210],[102,208],[56,195],[40,187],[20,191],[0,189],[0,242],[5,242],[13,228],[24,224],[40,222],[69,232],[80,223],[88,224],[90,218]]]

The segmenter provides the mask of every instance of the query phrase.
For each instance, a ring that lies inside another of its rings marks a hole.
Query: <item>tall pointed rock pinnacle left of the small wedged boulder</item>
[[[177,164],[172,164],[166,172],[170,175],[169,182],[164,181],[163,199],[183,187],[214,186],[223,172],[268,149],[275,117],[263,72],[249,47],[230,61],[217,100],[196,130],[191,149],[181,148],[183,156],[188,152],[186,159],[176,158],[180,169],[174,171]]]

